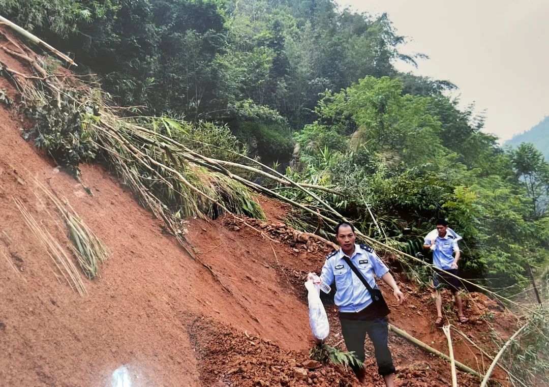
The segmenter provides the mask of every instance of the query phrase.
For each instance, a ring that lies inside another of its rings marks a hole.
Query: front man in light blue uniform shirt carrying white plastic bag
[[[326,258],[320,276],[322,282],[332,285],[335,282],[335,305],[339,310],[341,334],[348,351],[355,352],[361,362],[365,360],[364,342],[366,334],[372,340],[378,364],[379,374],[383,375],[385,385],[393,387],[395,367],[387,345],[388,323],[385,316],[379,317],[372,298],[362,281],[343,259],[347,256],[351,263],[366,279],[372,288],[377,288],[374,276],[381,277],[391,289],[399,304],[404,302],[404,294],[395,283],[385,263],[369,246],[355,244],[355,228],[351,223],[339,223],[335,227],[335,236],[340,246]],[[352,367],[360,383],[366,383],[366,370]]]

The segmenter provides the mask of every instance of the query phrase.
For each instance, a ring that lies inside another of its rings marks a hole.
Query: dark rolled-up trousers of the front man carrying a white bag
[[[389,329],[385,317],[369,321],[340,318],[339,321],[341,322],[341,333],[348,351],[355,352],[358,360],[364,362],[366,358],[364,342],[366,334],[368,334],[374,345],[379,374],[389,375],[395,372],[393,358],[387,345]],[[352,366],[352,368],[356,371],[356,366]]]

